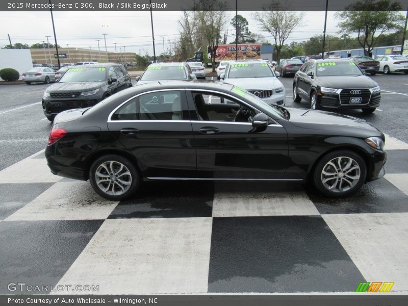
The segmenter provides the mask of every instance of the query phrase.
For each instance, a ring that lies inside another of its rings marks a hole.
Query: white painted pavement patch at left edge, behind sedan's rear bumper
[[[49,171],[45,158],[22,160],[0,171],[2,183],[53,183],[62,179]]]

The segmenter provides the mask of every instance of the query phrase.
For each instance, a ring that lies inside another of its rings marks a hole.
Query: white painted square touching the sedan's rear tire
[[[118,203],[99,196],[89,182],[58,182],[6,220],[104,220]]]

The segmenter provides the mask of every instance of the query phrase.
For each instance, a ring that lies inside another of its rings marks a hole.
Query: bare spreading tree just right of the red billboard
[[[285,2],[286,3],[286,2]],[[277,61],[281,59],[281,50],[292,31],[303,20],[302,12],[293,12],[289,5],[273,0],[263,12],[255,12],[252,17],[259,22],[262,30],[269,32],[275,40]]]

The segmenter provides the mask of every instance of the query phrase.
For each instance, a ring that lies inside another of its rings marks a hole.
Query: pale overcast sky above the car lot
[[[235,12],[228,14],[228,35],[233,41],[235,31],[230,20]],[[249,22],[249,30],[253,33],[264,35],[269,41],[270,34],[259,31],[259,25],[251,17],[251,12],[238,12]],[[169,41],[179,39],[179,19],[181,12],[153,12],[156,54],[163,53],[163,38],[168,52]],[[66,47],[82,47],[105,50],[103,33],[106,35],[108,51],[120,52],[125,46],[126,52],[136,52],[144,55],[153,54],[151,40],[151,25],[149,12],[54,12],[54,21],[59,45]],[[334,12],[328,12],[327,34],[336,35],[338,20]],[[315,34],[322,34],[324,26],[324,12],[306,12],[301,27],[293,31],[290,41],[307,40]],[[10,34],[12,43],[20,42],[32,45],[46,41],[45,36],[50,35],[50,43],[54,44],[53,28],[49,12],[0,12],[0,47],[9,44]]]

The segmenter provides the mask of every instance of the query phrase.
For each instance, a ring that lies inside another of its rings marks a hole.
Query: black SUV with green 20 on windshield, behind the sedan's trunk
[[[49,121],[65,110],[94,106],[125,88],[131,77],[120,64],[92,64],[69,68],[42,97],[42,108]]]

